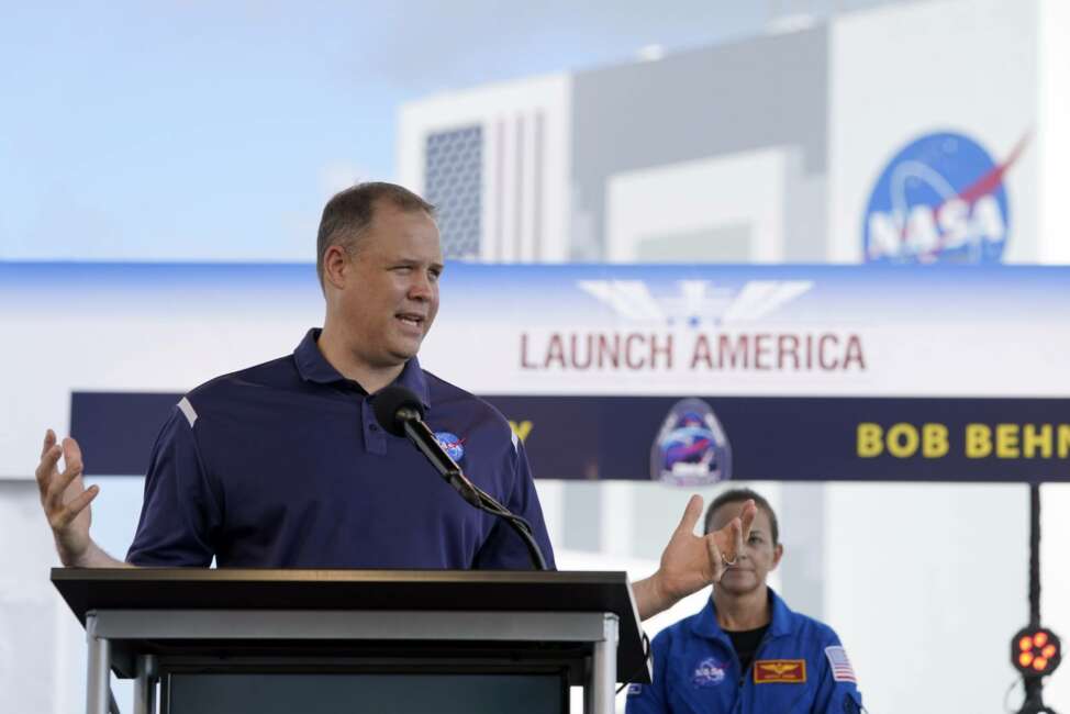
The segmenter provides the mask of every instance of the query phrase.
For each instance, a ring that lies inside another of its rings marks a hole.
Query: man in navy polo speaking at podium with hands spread
[[[490,404],[424,371],[416,353],[438,312],[434,208],[391,183],[327,202],[316,270],[322,330],[293,354],[213,379],[171,410],[153,448],[126,561],[93,543],[82,459],[49,431],[36,476],[60,560],[74,567],[520,569],[524,542],[466,503],[404,439],[383,431],[376,393],[411,390],[475,486],[532,526],[553,567],[523,444]],[[64,457],[64,470],[58,468]],[[427,478],[424,478],[427,475]],[[705,537],[693,497],[658,571],[635,584],[648,617],[720,579],[756,509]]]

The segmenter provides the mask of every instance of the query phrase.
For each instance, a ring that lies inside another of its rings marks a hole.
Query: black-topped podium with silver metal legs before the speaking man
[[[602,714],[617,682],[650,681],[623,572],[55,568],[52,581],[86,627],[89,714],[109,712],[110,671],[135,680],[134,714],[567,712],[569,685]]]

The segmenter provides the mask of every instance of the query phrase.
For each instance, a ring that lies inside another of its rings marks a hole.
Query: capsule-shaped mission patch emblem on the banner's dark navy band
[[[650,449],[650,476],[673,486],[707,486],[732,476],[732,448],[721,422],[701,399],[669,410]]]

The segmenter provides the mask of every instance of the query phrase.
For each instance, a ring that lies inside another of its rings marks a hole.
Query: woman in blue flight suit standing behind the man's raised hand
[[[788,609],[766,584],[783,556],[777,515],[749,489],[714,499],[705,532],[758,505],[750,538],[703,610],[654,638],[654,683],[628,688],[627,714],[855,714],[861,694],[832,627]]]

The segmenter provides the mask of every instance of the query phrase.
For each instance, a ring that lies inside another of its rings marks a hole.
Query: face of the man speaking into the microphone
[[[423,211],[382,201],[348,254],[339,311],[349,348],[372,368],[401,365],[438,313],[438,227]]]

